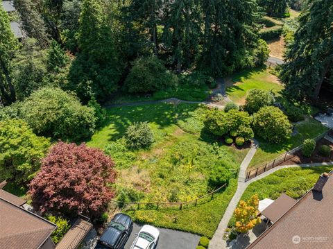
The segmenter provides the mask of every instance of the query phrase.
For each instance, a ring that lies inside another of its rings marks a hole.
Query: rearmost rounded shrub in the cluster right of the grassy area
[[[273,95],[264,89],[250,89],[248,96],[246,96],[245,109],[249,113],[255,113],[260,108],[273,105]]]

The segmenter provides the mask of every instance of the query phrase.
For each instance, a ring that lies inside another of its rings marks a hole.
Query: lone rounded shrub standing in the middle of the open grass
[[[126,146],[133,150],[147,148],[154,141],[153,132],[146,122],[133,123],[133,125],[128,126],[125,138]]]

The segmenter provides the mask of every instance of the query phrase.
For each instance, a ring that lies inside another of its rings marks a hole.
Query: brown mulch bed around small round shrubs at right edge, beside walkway
[[[302,151],[296,152],[295,156],[291,158],[290,160],[283,162],[280,165],[291,165],[291,164],[311,164],[314,162],[332,162],[333,161],[333,151],[331,151],[331,154],[329,157],[323,157],[319,153],[319,148],[322,145],[328,145],[333,149],[333,144],[330,141],[327,141],[326,139],[320,139],[317,144],[316,148],[314,150],[314,153],[312,153],[311,157],[305,157],[302,155]]]

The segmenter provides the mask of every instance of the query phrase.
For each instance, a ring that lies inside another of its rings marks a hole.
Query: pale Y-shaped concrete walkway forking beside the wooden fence
[[[252,150],[253,149],[253,150]],[[245,167],[245,165],[250,164],[250,160],[252,160],[253,155],[255,154],[256,149],[253,147],[248,151],[248,154],[244,158],[244,161],[242,162],[241,165]],[[210,249],[223,249],[223,248],[228,248],[227,241],[223,239],[225,229],[228,227],[228,223],[230,221],[230,218],[232,217],[232,214],[234,214],[234,209],[236,209],[239,200],[241,199],[241,196],[244,194],[244,191],[248,187],[249,184],[252,182],[255,182],[257,180],[260,180],[262,178],[265,178],[267,175],[271,175],[271,173],[274,173],[275,171],[278,171],[280,169],[288,169],[288,168],[307,168],[307,167],[314,167],[314,166],[329,166],[333,165],[333,162],[322,162],[322,163],[314,163],[314,164],[293,164],[293,165],[284,165],[284,166],[277,166],[271,170],[268,170],[257,177],[249,180],[248,182],[241,181],[241,171],[239,171],[239,178],[238,178],[238,186],[237,186],[237,191],[230,200],[230,203],[225,210],[225,213],[223,215],[223,218],[221,219],[219,223],[219,227],[217,227],[216,232],[210,241]],[[245,178],[245,175],[244,175]]]

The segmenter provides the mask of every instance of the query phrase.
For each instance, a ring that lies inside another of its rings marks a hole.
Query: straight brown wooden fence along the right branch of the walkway
[[[319,139],[322,139],[327,135],[331,130],[327,130],[326,132],[323,132],[321,135],[318,135],[314,138],[314,140],[318,141]],[[256,169],[252,169],[250,171],[246,172],[246,178],[245,181],[251,180],[252,178],[255,178],[257,175],[260,175],[266,171],[269,171],[270,169],[273,169],[276,166],[279,166],[282,164],[282,162],[286,162],[290,160],[291,158],[295,157],[295,153],[297,151],[300,151],[302,149],[303,145],[293,148],[291,151],[288,151],[287,153],[284,153],[282,155],[279,155],[274,160],[271,160],[270,162],[267,162],[266,164],[263,164],[262,166],[257,167]]]

